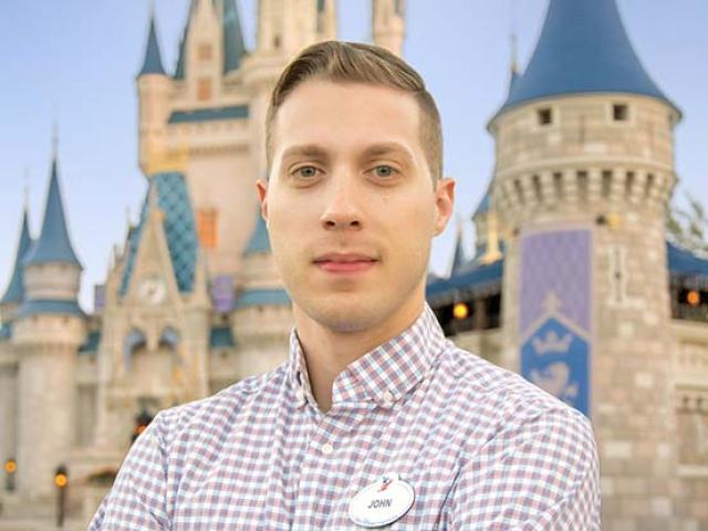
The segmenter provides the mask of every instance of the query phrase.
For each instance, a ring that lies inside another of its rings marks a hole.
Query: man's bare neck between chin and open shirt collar
[[[409,329],[420,316],[424,300],[421,296],[420,300],[403,304],[375,326],[353,332],[327,329],[293,304],[298,339],[308,364],[312,395],[323,413],[332,407],[332,386],[336,377],[364,354]]]

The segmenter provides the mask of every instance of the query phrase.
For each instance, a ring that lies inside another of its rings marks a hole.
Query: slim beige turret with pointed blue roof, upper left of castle
[[[170,80],[163,66],[155,13],[150,15],[143,67],[137,75],[139,100],[139,165],[148,171],[150,162],[164,156],[169,114]]]

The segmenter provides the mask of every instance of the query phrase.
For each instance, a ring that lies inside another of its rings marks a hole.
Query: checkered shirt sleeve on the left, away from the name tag
[[[170,528],[160,418],[158,414],[131,447],[88,531],[162,531]]]

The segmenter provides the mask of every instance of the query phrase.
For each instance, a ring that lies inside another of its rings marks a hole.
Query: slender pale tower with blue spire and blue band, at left
[[[74,366],[85,336],[76,302],[81,272],[54,156],[42,231],[23,259],[25,296],[12,327],[19,360],[18,489],[27,497],[53,493],[54,470],[74,442]]]

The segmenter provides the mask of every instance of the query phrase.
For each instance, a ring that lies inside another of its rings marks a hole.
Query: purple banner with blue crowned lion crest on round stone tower
[[[521,375],[590,417],[592,235],[521,241]]]

